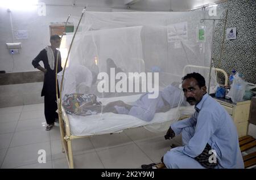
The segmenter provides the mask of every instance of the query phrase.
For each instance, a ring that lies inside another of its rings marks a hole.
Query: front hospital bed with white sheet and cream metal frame
[[[127,104],[136,101],[141,95],[131,95],[122,97],[110,97],[99,99],[102,105],[108,104],[116,100],[122,100]],[[60,131],[61,141],[63,144],[63,152],[65,152],[69,168],[74,168],[72,140],[78,138],[86,138],[92,135],[112,134],[122,132],[128,128],[135,128],[147,125],[155,125],[168,122],[170,125],[176,120],[187,118],[195,111],[193,106],[180,106],[172,108],[165,113],[155,113],[154,118],[150,122],[143,121],[137,117],[126,114],[102,113],[96,115],[71,115],[65,112],[64,107],[61,108]]]

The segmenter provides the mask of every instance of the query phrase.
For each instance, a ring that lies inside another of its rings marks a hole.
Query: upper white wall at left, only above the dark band
[[[7,0],[8,1],[8,0]],[[6,7],[0,6],[0,70],[6,72],[26,72],[36,71],[31,65],[32,59],[45,46],[49,45],[49,25],[51,22],[65,22],[68,14],[80,16],[82,8],[87,5],[88,11],[112,11],[112,8],[126,8],[123,1],[119,0],[44,0],[46,3],[46,16],[38,15],[38,7],[33,10],[17,10],[10,7],[11,12],[7,12]],[[72,3],[75,6],[72,7]],[[13,21],[13,31],[27,30],[28,38],[16,40],[22,42],[19,54],[9,54],[6,42],[12,42],[10,13]]]

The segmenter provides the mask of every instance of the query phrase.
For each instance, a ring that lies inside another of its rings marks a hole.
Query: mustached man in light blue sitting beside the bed
[[[192,117],[172,123],[167,131],[167,139],[181,133],[184,145],[164,155],[167,168],[244,168],[237,128],[226,110],[207,95],[204,77],[187,74],[182,88],[196,111]]]

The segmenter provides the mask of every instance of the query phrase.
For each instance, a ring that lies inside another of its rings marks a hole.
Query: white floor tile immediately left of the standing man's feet
[[[46,129],[46,120],[44,119],[28,119],[23,121],[18,121],[18,125],[15,131],[26,131],[34,130],[38,128]]]

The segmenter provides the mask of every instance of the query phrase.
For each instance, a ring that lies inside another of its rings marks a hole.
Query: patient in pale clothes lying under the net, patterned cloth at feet
[[[133,105],[125,104],[123,101],[110,102],[102,106],[95,95],[73,94],[65,95],[64,108],[69,114],[94,115],[98,113],[128,114],[140,118],[143,121],[151,121],[155,113],[167,112],[178,106],[181,89],[169,85],[159,92],[157,98],[148,98],[149,93],[144,93]],[[187,104],[184,100],[181,105]]]

